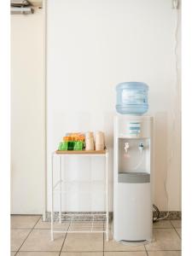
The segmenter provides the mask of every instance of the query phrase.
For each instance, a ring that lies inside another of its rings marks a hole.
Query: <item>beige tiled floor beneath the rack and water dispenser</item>
[[[40,216],[11,216],[11,256],[181,256],[181,221],[154,224],[154,241],[128,246],[105,240],[103,234],[57,234]]]

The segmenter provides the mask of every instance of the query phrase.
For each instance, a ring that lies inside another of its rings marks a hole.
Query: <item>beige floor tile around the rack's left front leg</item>
[[[32,233],[20,248],[20,251],[57,252],[61,250],[65,236],[65,234],[55,234],[55,240],[51,241],[50,230],[32,230]]]

